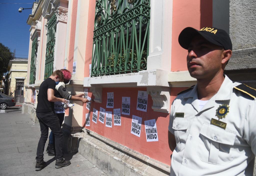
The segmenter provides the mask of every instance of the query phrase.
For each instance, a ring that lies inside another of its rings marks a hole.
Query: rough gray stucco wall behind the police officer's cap
[[[226,70],[256,68],[256,1],[229,1],[229,35],[233,56]],[[256,78],[255,78],[256,79]]]

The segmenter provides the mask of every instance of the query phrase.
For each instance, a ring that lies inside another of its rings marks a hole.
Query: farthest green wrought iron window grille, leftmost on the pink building
[[[32,42],[29,84],[35,84],[35,80],[36,80],[36,55],[37,55],[36,47],[37,47],[37,38],[35,38]]]

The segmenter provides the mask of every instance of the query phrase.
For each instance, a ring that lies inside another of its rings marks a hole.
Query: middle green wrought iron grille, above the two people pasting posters
[[[56,33],[56,14],[52,15],[47,26],[47,44],[45,56],[45,76],[47,79],[53,72],[55,33]]]

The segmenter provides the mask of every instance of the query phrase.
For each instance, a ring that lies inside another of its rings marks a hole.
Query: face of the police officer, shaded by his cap
[[[223,49],[196,36],[188,47],[187,67],[190,76],[196,79],[214,77],[221,71]]]

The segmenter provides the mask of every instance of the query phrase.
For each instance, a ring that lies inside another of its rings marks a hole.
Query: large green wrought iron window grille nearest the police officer
[[[96,0],[91,77],[147,69],[150,0]]]

